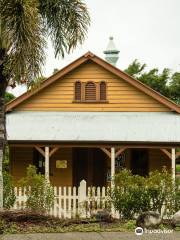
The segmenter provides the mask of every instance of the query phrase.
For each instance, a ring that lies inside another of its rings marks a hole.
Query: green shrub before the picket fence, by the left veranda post
[[[36,173],[36,167],[30,165],[27,175],[19,182],[21,187],[26,187],[26,207],[38,213],[47,213],[54,202],[53,188],[44,178],[44,175]]]

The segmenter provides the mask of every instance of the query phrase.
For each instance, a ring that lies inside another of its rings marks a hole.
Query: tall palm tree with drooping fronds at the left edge
[[[50,37],[55,56],[82,44],[90,23],[81,0],[0,0],[0,208],[3,208],[2,160],[5,146],[5,91],[41,75]]]

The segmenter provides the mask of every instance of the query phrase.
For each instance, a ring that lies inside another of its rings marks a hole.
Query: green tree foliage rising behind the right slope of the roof
[[[125,69],[125,72],[176,103],[180,103],[179,72],[171,74],[168,68],[164,68],[161,73],[157,68],[146,71],[146,64],[141,64],[137,59]]]

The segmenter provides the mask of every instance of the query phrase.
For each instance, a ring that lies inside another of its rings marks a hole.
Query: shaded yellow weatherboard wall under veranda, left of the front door
[[[33,164],[32,147],[11,147],[10,173],[14,184],[26,176],[27,167]],[[56,168],[56,160],[66,159],[66,168]],[[72,186],[72,148],[59,149],[49,161],[50,182],[56,186]]]

